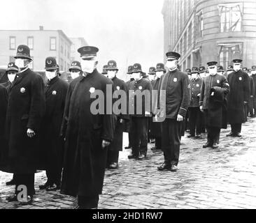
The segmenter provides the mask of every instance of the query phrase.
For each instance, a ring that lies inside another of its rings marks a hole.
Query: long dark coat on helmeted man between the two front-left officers
[[[55,77],[45,86],[45,115],[41,128],[41,167],[47,169],[55,164],[61,167],[64,151],[64,139],[59,132],[65,107],[68,84]]]

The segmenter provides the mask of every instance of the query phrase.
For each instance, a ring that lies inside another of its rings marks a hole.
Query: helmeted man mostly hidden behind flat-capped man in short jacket
[[[157,91],[159,89],[159,82],[162,77],[162,75],[165,74],[166,70],[164,68],[164,63],[157,63],[156,66],[156,79],[152,82],[153,90]],[[157,96],[152,95],[152,107],[156,106],[157,103]],[[151,123],[151,134],[153,137],[155,137],[155,146],[151,148],[152,151],[155,150],[161,150],[162,149],[162,126],[161,123],[157,121],[155,114],[153,114],[152,117],[152,123]]]

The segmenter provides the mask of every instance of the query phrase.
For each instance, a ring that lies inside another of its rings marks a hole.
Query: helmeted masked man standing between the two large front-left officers
[[[71,68],[78,70],[79,67],[74,68],[75,66],[77,64],[71,63]],[[45,76],[48,82],[45,89],[45,115],[41,128],[41,169],[46,170],[48,179],[44,185],[39,185],[39,188],[54,191],[60,188],[62,174],[64,138],[59,136],[59,132],[62,125],[68,84],[59,78],[54,57],[45,59]]]

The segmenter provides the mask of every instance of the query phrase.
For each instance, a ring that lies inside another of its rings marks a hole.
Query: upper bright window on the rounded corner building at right
[[[241,31],[242,10],[240,4],[219,5],[220,32]]]

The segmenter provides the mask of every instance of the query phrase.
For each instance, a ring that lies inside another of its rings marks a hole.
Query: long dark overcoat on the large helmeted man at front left
[[[13,173],[34,173],[44,113],[45,89],[41,76],[30,69],[17,74],[10,86],[6,116],[8,157]],[[36,136],[27,137],[28,128]]]

